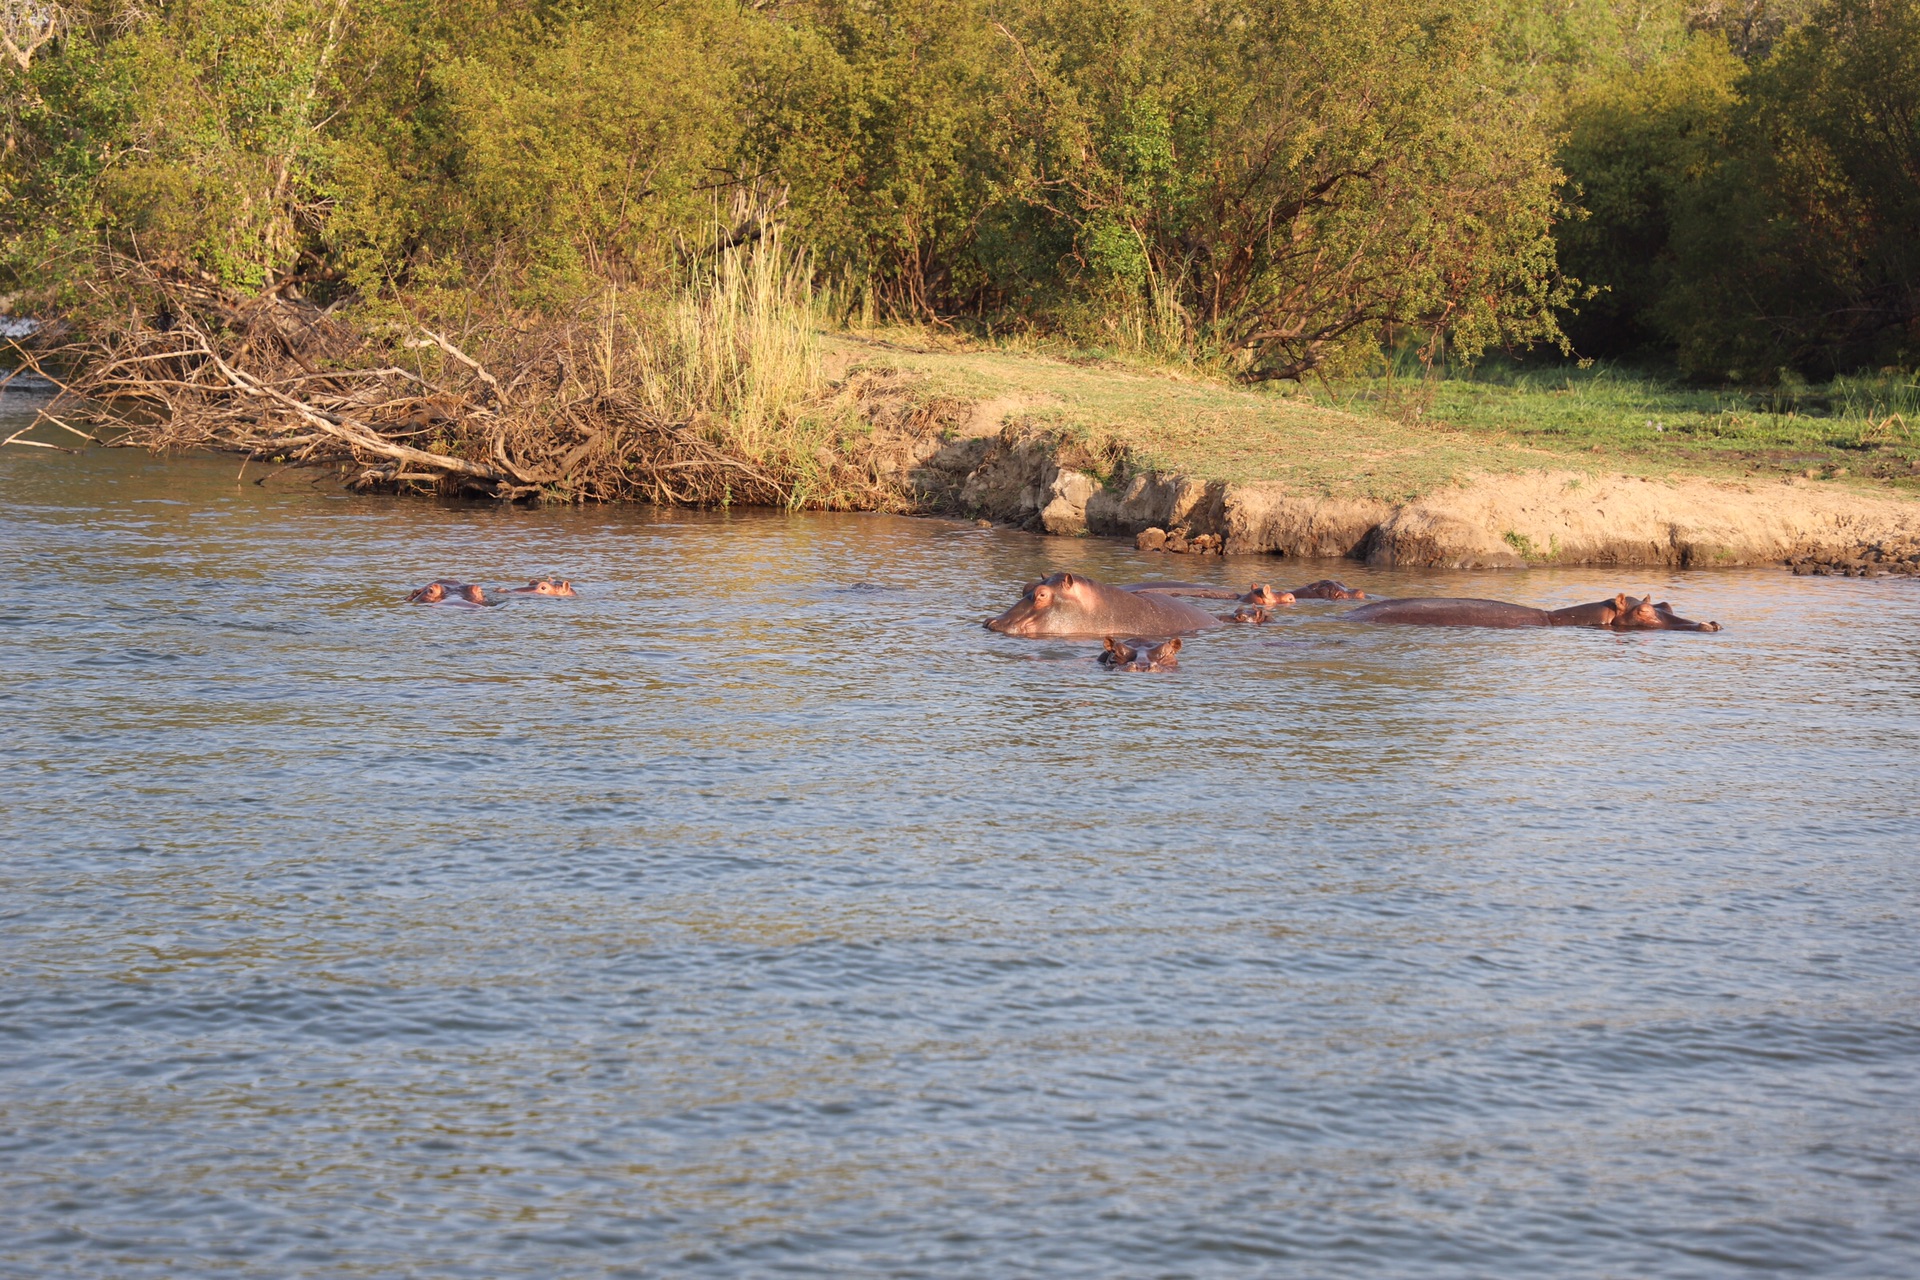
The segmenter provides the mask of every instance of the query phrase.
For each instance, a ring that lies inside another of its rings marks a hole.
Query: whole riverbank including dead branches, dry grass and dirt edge
[[[1772,393],[1770,411],[1605,370],[1248,390],[916,330],[822,332],[783,278],[689,296],[699,342],[601,367],[584,357],[611,324],[503,330],[474,359],[426,326],[380,345],[276,301],[88,351],[90,382],[67,399],[92,416],[69,422],[267,470],[336,466],[363,491],[956,514],[1375,566],[1920,572],[1920,413],[1899,399],[1920,388]],[[286,340],[278,357],[248,338],[263,328]],[[703,382],[712,351],[726,359]],[[167,363],[180,372],[156,384]],[[123,386],[127,368],[140,374]],[[121,403],[146,409],[106,409]]]

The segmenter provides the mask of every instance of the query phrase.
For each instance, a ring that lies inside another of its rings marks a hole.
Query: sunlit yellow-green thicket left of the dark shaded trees
[[[15,27],[54,6],[10,0]],[[845,299],[1206,349],[1555,338],[1551,140],[1486,0],[75,4],[6,71],[13,288],[566,307],[751,190]],[[728,226],[751,236],[755,226]],[[44,301],[40,303],[44,305]]]

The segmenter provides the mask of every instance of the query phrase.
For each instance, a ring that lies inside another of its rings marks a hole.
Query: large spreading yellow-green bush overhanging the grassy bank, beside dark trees
[[[1559,175],[1494,31],[1427,0],[1035,6],[1016,190],[1073,230],[1068,271],[1171,290],[1252,380],[1350,368],[1394,326],[1551,340]]]

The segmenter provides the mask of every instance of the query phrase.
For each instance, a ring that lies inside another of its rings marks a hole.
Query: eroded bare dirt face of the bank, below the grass
[[[1352,557],[1377,566],[1920,572],[1920,501],[1834,482],[1538,470],[1386,503],[1131,472],[1125,457],[981,418],[954,415],[937,441],[902,451],[902,484],[922,507],[1056,535],[1135,537],[1148,549]]]

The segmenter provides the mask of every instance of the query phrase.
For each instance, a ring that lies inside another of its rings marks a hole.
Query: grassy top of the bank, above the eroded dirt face
[[[1116,439],[1140,466],[1204,480],[1284,480],[1327,495],[1396,501],[1473,472],[1814,470],[1849,487],[1920,493],[1920,415],[1876,426],[1889,409],[1920,401],[1920,390],[1908,393],[1899,384],[1878,388],[1878,395],[1853,386],[1839,395],[1768,405],[1609,370],[1565,370],[1432,384],[1375,378],[1283,395],[906,334],[843,334],[829,338],[828,349],[839,367],[918,374],[929,397],[1010,401],[1016,415],[1037,424]],[[1845,478],[1832,478],[1837,468]]]

